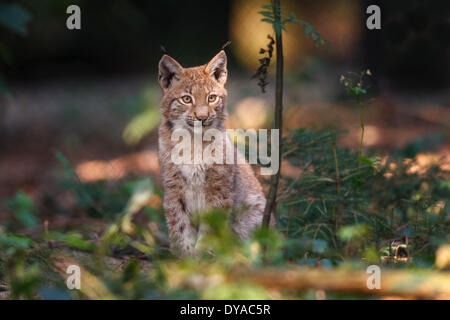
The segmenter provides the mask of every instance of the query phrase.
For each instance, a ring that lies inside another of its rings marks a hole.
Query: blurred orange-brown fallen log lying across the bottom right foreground
[[[268,289],[305,291],[308,289],[366,295],[393,295],[419,299],[450,299],[450,273],[420,271],[381,271],[380,289],[369,289],[367,280],[371,274],[355,270],[323,270],[295,268],[240,269],[229,273],[228,280],[245,279]]]

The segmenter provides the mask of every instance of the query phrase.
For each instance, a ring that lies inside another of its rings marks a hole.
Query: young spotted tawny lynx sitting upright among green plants
[[[183,68],[173,58],[164,55],[159,62],[158,80],[163,89],[159,162],[172,250],[181,256],[196,252],[199,240],[207,230],[201,222],[196,225],[195,215],[209,208],[226,208],[227,212],[233,209],[233,217],[230,215],[233,230],[241,239],[248,238],[252,229],[261,225],[266,203],[250,165],[245,161],[175,164],[171,160],[177,143],[172,141],[172,133],[177,129],[193,131],[195,121],[201,121],[203,130],[217,129],[223,141],[228,142],[224,143],[224,148],[234,152],[236,157],[243,157],[229,143],[224,126],[227,116],[225,52],[220,51],[206,65],[193,68]],[[207,144],[203,142],[204,147]]]

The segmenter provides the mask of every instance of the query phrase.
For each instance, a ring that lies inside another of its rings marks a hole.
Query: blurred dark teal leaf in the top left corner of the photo
[[[12,32],[25,36],[30,19],[30,13],[22,6],[15,3],[0,4],[0,24]]]

